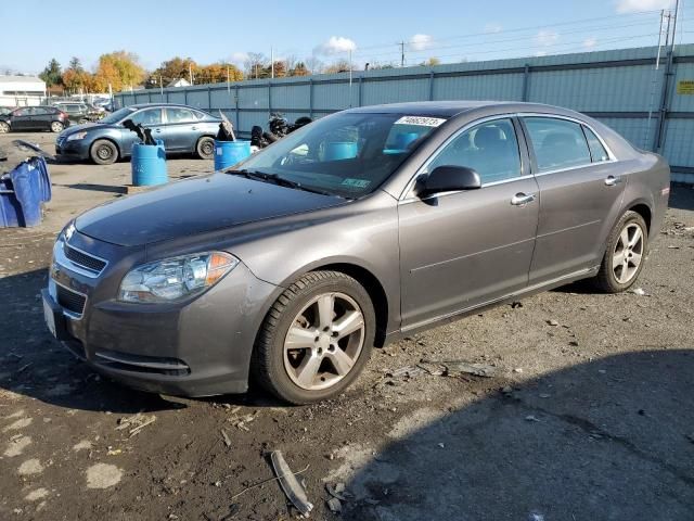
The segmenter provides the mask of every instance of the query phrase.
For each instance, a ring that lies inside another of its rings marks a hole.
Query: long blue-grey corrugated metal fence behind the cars
[[[694,182],[694,93],[678,93],[694,80],[694,45],[674,49],[670,73],[657,48],[620,49],[553,56],[494,60],[311,77],[196,85],[187,88],[121,92],[120,105],[184,103],[222,111],[241,135],[267,127],[271,112],[290,120],[321,117],[350,106],[425,100],[518,100],[584,112],[629,139],[658,150],[674,180]],[[668,79],[666,84],[666,78]],[[667,86],[667,89],[664,87]],[[663,124],[660,107],[665,94]],[[659,145],[658,145],[659,142]]]

